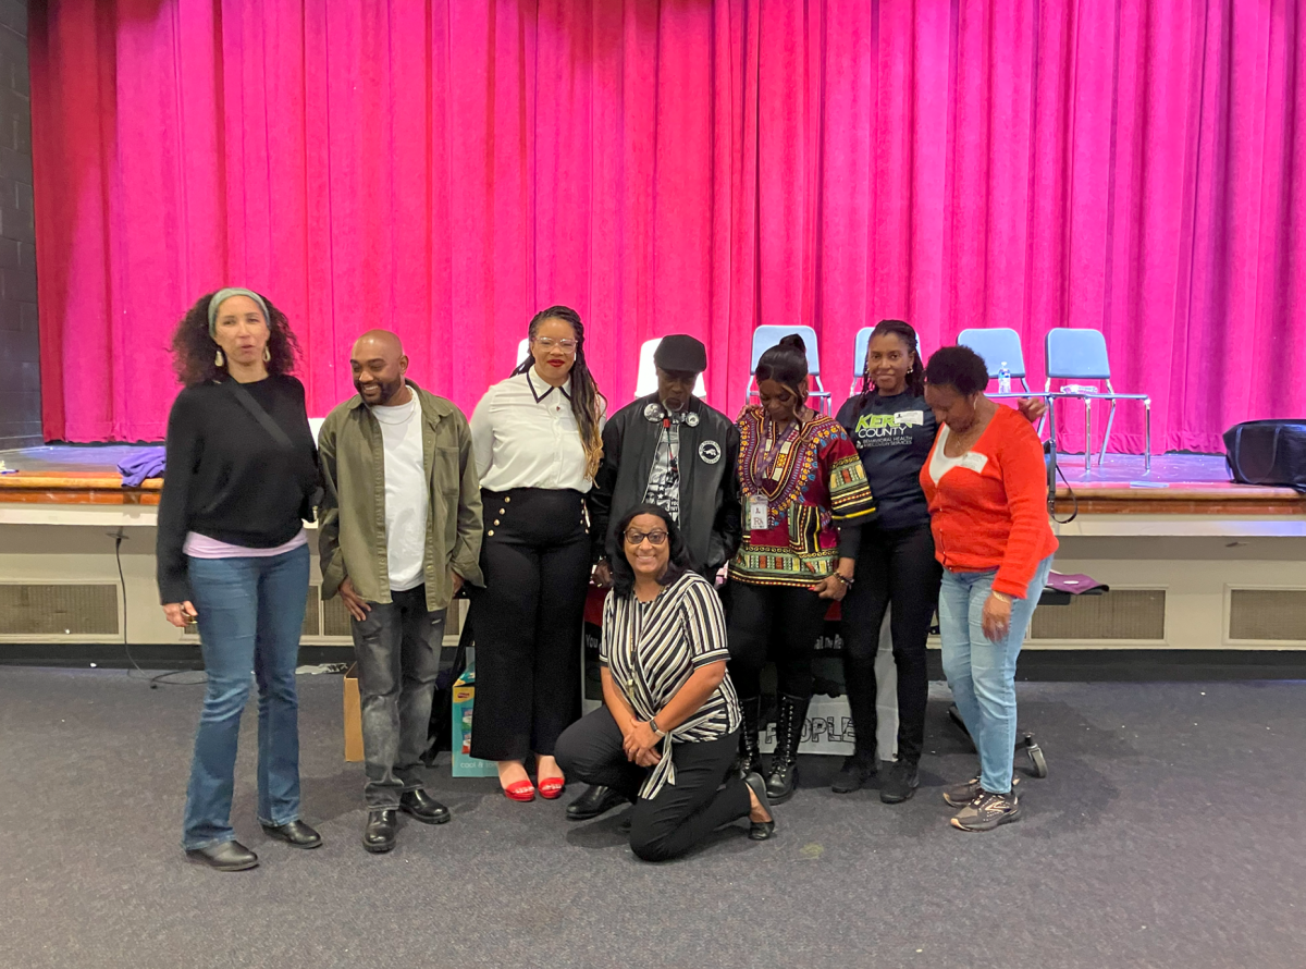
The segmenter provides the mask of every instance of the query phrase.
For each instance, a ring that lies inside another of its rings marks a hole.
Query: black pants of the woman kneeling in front
[[[568,777],[635,801],[631,850],[646,862],[677,858],[722,824],[748,815],[748,786],[734,774],[726,777],[738,752],[738,731],[720,740],[674,744],[675,784],[662,785],[656,798],[645,801],[639,793],[649,770],[626,759],[622,730],[606,707],[586,713],[558,739],[558,763]]]

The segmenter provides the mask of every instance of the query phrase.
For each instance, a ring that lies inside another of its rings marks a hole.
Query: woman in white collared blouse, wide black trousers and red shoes
[[[486,588],[471,602],[477,709],[471,756],[499,764],[513,801],[565,778],[558,737],[579,712],[581,622],[589,585],[582,496],[602,458],[603,397],[585,366],[580,315],[555,306],[530,321],[530,357],[471,415],[481,475]]]

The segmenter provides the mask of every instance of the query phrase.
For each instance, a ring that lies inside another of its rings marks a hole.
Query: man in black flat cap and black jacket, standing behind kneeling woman
[[[616,522],[643,501],[666,508],[690,552],[690,563],[709,581],[739,547],[739,430],[693,396],[708,351],[684,334],[663,337],[653,354],[657,393],[639,397],[607,421],[603,461],[585,496],[594,537],[594,581],[611,582],[609,562],[622,554]],[[607,787],[589,787],[567,808],[573,821],[624,804]]]

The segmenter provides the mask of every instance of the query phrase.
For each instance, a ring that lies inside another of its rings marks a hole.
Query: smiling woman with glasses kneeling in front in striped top
[[[633,508],[616,534],[626,554],[603,603],[603,707],[567,727],[558,761],[635,801],[631,850],[644,861],[682,855],[744,815],[748,837],[763,841],[776,828],[765,782],[730,770],[741,712],[721,601],[690,571],[661,507]]]

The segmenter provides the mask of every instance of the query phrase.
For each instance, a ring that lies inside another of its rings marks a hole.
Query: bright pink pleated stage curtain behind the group
[[[902,317],[1017,329],[1037,385],[1049,328],[1102,329],[1158,448],[1306,414],[1294,0],[48,0],[30,33],[50,439],[161,436],[168,334],[227,283],[286,310],[315,414],[370,326],[470,409],[551,303],[614,406],[690,332],[733,413],[757,324],[814,326],[837,401]]]

